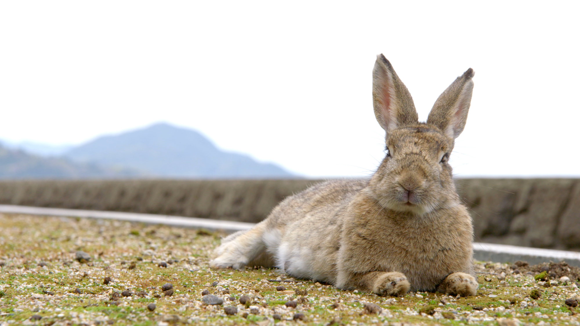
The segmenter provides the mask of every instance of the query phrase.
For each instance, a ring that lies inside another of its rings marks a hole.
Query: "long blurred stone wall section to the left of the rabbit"
[[[0,204],[259,222],[316,180],[0,181]]]

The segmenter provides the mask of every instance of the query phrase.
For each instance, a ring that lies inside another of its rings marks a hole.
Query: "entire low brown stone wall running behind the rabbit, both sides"
[[[4,180],[0,204],[259,222],[320,180]],[[474,240],[580,251],[580,179],[456,179]]]

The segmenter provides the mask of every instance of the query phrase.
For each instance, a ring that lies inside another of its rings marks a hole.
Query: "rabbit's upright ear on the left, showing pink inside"
[[[375,68],[372,70],[372,102],[376,120],[387,134],[419,120],[409,90],[382,54],[376,56]]]

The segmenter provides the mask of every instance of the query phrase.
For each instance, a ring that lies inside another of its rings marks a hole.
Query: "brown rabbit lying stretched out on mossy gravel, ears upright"
[[[251,230],[223,239],[212,268],[277,267],[336,288],[402,296],[476,295],[473,226],[449,155],[472,97],[471,68],[438,97],[427,122],[385,56],[372,98],[386,156],[368,179],[330,180],[282,201]]]

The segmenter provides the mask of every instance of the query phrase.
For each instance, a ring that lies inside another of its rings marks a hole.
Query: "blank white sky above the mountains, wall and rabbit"
[[[0,2],[0,139],[82,143],[158,121],[304,176],[383,157],[384,53],[425,120],[472,67],[458,176],[580,176],[580,2]]]

